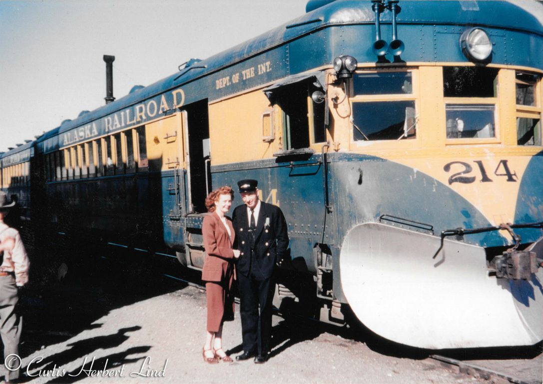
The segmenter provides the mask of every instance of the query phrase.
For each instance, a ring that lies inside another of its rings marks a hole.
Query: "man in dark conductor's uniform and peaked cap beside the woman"
[[[237,184],[244,204],[232,213],[237,249],[241,251],[236,271],[243,354],[236,360],[255,356],[255,363],[264,363],[270,351],[273,273],[275,263],[281,261],[288,247],[287,223],[279,207],[258,199],[256,180],[240,180]]]

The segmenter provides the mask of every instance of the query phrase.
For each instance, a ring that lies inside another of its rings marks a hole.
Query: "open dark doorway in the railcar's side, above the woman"
[[[205,198],[211,191],[210,141],[207,99],[182,109],[185,138],[187,213],[206,212]]]

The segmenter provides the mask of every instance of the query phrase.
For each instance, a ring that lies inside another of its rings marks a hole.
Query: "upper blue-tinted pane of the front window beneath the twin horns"
[[[353,76],[355,95],[413,93],[411,72],[359,73]]]

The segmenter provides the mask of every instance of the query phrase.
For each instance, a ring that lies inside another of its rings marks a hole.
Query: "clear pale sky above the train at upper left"
[[[305,12],[307,0],[0,0],[0,152]]]

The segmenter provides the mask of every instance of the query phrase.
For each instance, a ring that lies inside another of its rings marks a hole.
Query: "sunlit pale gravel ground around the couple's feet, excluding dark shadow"
[[[114,309],[78,335],[24,357],[23,367],[32,376],[49,375],[33,377],[29,383],[477,382],[432,360],[379,354],[361,342],[323,332],[320,324],[293,329],[294,325],[277,316],[273,342],[277,345],[266,364],[246,361],[210,366],[203,362],[200,352],[205,318],[205,293],[186,287]],[[237,316],[225,325],[225,346],[241,352],[240,335]],[[41,362],[40,357],[44,358]],[[92,372],[104,368],[106,375],[117,376],[103,377],[102,372]],[[98,376],[89,376],[93,373]],[[160,377],[141,376],[147,374]]]

